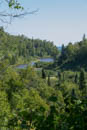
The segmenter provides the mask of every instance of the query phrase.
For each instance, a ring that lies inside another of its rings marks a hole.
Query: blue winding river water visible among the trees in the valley
[[[49,62],[53,62],[54,60],[53,60],[53,58],[41,58],[39,61],[49,63]],[[32,61],[31,66],[34,66],[35,63],[36,63],[36,61]],[[18,69],[25,69],[27,67],[28,67],[28,64],[21,64],[21,65],[17,66]]]

